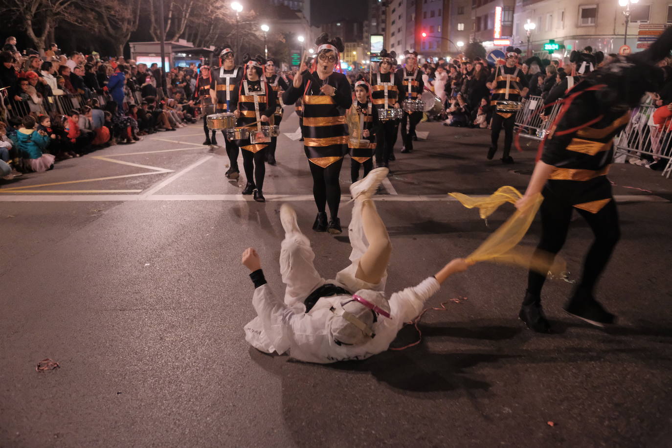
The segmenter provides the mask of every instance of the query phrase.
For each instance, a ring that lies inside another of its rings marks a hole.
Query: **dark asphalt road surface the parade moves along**
[[[394,245],[388,292],[468,255],[512,210],[485,223],[446,193],[523,188],[534,162],[526,144],[515,165],[486,161],[485,130],[419,131],[427,140],[397,153],[377,196]],[[280,292],[283,201],[325,277],[347,265],[347,232],[310,230],[300,142],[281,137],[258,204],[202,140],[198,124],[0,183],[1,447],[672,447],[672,181],[612,169],[622,240],[599,298],[618,326],[566,316],[572,285],[556,280],[544,289],[555,332],[534,334],[517,319],[526,273],[482,263],[429,300],[446,309],[425,314],[419,345],[310,365],[245,342],[253,285],[240,254],[256,247]],[[348,178],[346,162],[344,192]],[[579,218],[562,251],[572,279],[590,242]],[[407,326],[394,346],[417,338]],[[45,358],[60,368],[36,371]]]

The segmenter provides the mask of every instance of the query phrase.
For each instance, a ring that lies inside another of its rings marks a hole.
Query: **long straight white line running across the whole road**
[[[197,162],[199,165],[204,160]],[[187,169],[196,167],[196,164]],[[173,176],[184,174],[186,171],[180,171]],[[181,174],[180,174],[181,173]],[[169,178],[170,179],[170,178]],[[169,180],[166,179],[166,180]],[[166,184],[167,185],[167,184]],[[165,185],[157,185],[163,188]],[[156,187],[155,187],[156,188]],[[160,189],[159,188],[159,189]],[[15,191],[19,193],[20,191]],[[311,195],[264,195],[267,201],[312,201]],[[474,197],[487,197],[487,195],[474,195]],[[457,199],[448,195],[375,195],[372,199],[376,201],[392,202],[457,202]],[[667,202],[664,197],[655,195],[616,195],[616,202]],[[343,195],[341,202],[350,200],[349,195]],[[126,195],[99,195],[99,194],[73,194],[73,195],[2,195],[0,202],[103,202],[103,201],[253,201],[251,195],[241,194],[193,194],[193,195],[157,195],[151,194],[126,194]]]

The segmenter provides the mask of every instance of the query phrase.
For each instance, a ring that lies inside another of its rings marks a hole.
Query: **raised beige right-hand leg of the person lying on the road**
[[[376,285],[380,283],[387,270],[390,255],[392,255],[392,243],[387,234],[387,228],[371,199],[364,199],[362,202],[362,228],[364,228],[369,247],[360,258],[355,277]]]

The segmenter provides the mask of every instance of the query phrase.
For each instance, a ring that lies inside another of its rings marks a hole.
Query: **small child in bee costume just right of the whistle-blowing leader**
[[[378,120],[377,109],[370,99],[371,86],[363,79],[355,83],[356,103],[349,109],[348,122],[356,123],[354,132],[348,140],[350,153],[350,177],[355,183],[360,177],[360,167],[364,167],[364,176],[374,167],[373,156],[376,151],[376,134],[380,132],[382,124]]]

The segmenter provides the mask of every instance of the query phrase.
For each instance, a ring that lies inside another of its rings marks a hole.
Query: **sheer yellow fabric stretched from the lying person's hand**
[[[501,187],[493,195],[487,197],[470,197],[462,193],[450,193],[450,195],[458,199],[466,208],[478,208],[480,217],[483,219],[493,214],[502,204],[506,202],[515,204],[522,197],[517,189],[509,186]],[[494,261],[518,265],[544,275],[550,271],[552,275],[562,277],[565,272],[565,263],[560,257],[556,257],[554,263],[551,263],[552,255],[536,253],[532,247],[517,246],[532,225],[542,201],[544,197],[538,193],[528,208],[516,210],[504,224],[480,244],[476,251],[466,257],[466,260],[472,263]]]

